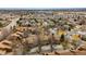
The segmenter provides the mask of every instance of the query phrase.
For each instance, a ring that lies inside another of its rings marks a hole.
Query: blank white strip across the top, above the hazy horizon
[[[86,0],[0,0],[0,8],[86,8]]]

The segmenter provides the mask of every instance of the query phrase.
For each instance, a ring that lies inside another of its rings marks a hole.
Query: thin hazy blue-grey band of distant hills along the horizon
[[[0,8],[0,11],[86,11],[86,8]]]

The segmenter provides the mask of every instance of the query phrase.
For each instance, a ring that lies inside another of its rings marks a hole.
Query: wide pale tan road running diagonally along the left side
[[[17,18],[13,18],[12,22],[2,28],[1,33],[0,33],[0,40],[4,39],[4,37],[9,36],[13,29],[13,26],[16,26],[16,22],[19,21]]]

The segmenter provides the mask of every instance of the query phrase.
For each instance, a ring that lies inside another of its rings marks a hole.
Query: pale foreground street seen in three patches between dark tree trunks
[[[63,47],[60,46],[60,44],[53,44],[53,50],[54,51],[62,51],[63,50]],[[30,51],[28,52],[28,54],[36,54],[38,51],[38,47],[35,47],[35,48],[32,48]],[[48,46],[42,46],[41,47],[41,53],[42,52],[51,52],[51,48],[50,48],[50,44]]]

